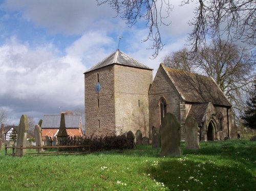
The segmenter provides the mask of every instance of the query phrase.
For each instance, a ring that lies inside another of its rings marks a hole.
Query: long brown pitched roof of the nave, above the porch
[[[208,103],[231,107],[214,79],[161,64],[186,102]]]

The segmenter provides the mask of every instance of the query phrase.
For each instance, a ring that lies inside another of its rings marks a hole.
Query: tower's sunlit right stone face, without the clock
[[[148,88],[152,70],[114,66],[116,134],[140,130],[149,136]]]

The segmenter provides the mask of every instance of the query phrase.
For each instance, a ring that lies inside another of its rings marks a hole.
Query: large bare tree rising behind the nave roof
[[[173,59],[182,55],[189,55],[186,50],[173,53],[169,58],[175,62],[172,66],[180,69],[189,63],[190,70],[193,68],[197,73],[211,76],[225,93],[236,111],[241,115],[244,109],[244,96],[250,91],[250,84],[255,81],[255,56],[234,43],[219,39],[212,40],[210,45],[198,50],[192,57]],[[184,59],[187,58],[187,61]],[[166,57],[164,64],[166,64]],[[166,65],[169,65],[167,63]],[[189,71],[188,69],[186,69]]]

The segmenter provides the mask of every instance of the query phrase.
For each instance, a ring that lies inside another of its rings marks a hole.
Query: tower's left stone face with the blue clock
[[[101,89],[95,91],[97,74]],[[90,71],[84,75],[86,135],[115,133],[114,65]],[[99,107],[98,107],[99,101]]]

